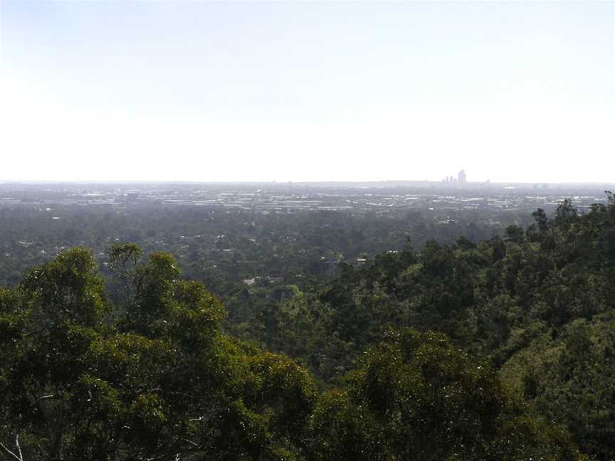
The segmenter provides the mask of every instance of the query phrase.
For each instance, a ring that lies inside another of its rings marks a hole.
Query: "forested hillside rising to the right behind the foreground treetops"
[[[501,368],[507,386],[583,450],[613,459],[615,349],[597,351],[606,339],[592,332],[604,337],[606,327],[594,325],[609,324],[615,307],[615,202],[609,196],[582,213],[563,201],[552,218],[540,209],[533,216],[525,232],[509,226],[504,238],[431,241],[344,265],[326,284],[269,304],[257,317],[266,322],[251,333],[330,386],[390,328],[444,332]],[[589,327],[580,328],[584,322]]]

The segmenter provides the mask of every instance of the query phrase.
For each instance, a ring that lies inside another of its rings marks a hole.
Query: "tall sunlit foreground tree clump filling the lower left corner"
[[[298,456],[315,399],[308,373],[221,334],[220,302],[178,280],[170,255],[135,274],[112,324],[87,250],[0,291],[2,456],[11,443],[24,459]]]

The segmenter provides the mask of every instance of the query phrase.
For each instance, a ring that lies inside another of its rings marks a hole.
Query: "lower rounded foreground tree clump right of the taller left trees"
[[[347,390],[320,398],[310,419],[311,459],[582,459],[564,433],[522,415],[498,376],[442,334],[391,333],[348,380]]]

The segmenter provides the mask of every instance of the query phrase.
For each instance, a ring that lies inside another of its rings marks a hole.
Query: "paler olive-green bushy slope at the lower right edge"
[[[503,376],[537,411],[567,425],[597,459],[615,456],[615,320],[576,319],[557,337],[545,334],[503,366]]]

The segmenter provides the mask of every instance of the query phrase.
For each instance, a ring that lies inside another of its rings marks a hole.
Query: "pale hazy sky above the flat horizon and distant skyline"
[[[614,1],[0,0],[0,180],[615,180]]]

